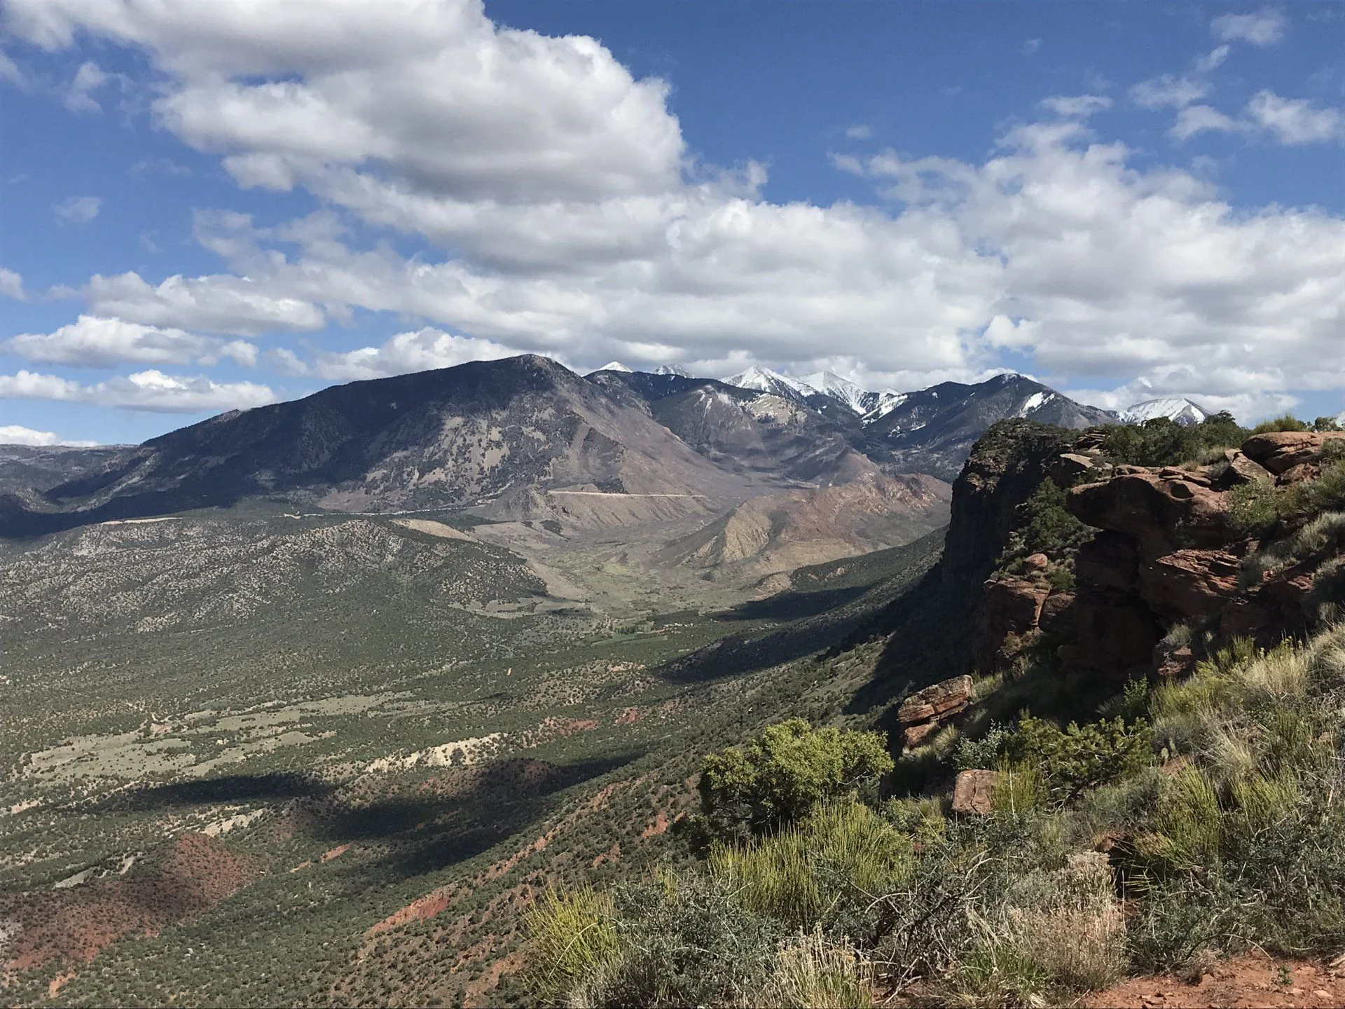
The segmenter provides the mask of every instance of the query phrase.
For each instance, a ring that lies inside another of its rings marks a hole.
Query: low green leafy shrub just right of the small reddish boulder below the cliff
[[[1153,733],[1149,722],[1131,725],[1120,716],[1064,729],[1042,718],[1018,722],[1018,748],[1024,761],[1041,774],[1050,795],[1069,802],[1085,788],[1127,778],[1149,763]]]

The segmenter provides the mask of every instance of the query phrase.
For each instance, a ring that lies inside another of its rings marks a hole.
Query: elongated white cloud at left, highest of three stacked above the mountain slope
[[[319,330],[327,322],[317,305],[260,289],[242,277],[172,276],[151,285],[134,272],[95,274],[82,293],[94,315],[144,326],[257,336],[274,330]]]

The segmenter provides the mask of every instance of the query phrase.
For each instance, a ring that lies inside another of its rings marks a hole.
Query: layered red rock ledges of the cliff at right
[[[1098,464],[1095,447],[1083,444],[1087,437],[1044,463],[1059,484],[1071,484],[1089,468],[1108,470]],[[1258,435],[1228,449],[1228,465],[1213,478],[1124,465],[1111,468],[1110,479],[1071,487],[1065,509],[1098,530],[1075,556],[1075,587],[1052,589],[1038,577],[1034,569],[1049,564],[1045,557],[1029,557],[1025,576],[987,581],[976,623],[976,669],[1003,667],[1024,643],[1046,634],[1060,642],[1059,654],[1075,671],[1114,679],[1176,675],[1193,662],[1189,647],[1163,643],[1178,623],[1262,644],[1303,630],[1314,573],[1338,548],[1326,544],[1258,576],[1244,558],[1259,544],[1232,521],[1231,488],[1314,480],[1326,443],[1340,437],[1345,435]]]

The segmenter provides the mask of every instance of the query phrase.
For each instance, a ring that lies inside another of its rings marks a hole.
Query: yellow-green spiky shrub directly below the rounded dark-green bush
[[[863,928],[863,909],[911,868],[911,838],[857,802],[822,807],[777,834],[710,854],[712,874],[744,907],[800,931]]]

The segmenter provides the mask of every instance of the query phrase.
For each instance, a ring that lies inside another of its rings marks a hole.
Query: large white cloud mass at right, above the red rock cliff
[[[1233,213],[1194,176],[1137,172],[1123,145],[1083,136],[1036,124],[982,165],[888,152],[863,170],[1003,257],[998,313],[1033,324],[1041,371],[1245,402],[1345,385],[1345,222]]]

